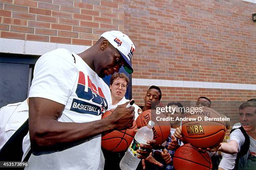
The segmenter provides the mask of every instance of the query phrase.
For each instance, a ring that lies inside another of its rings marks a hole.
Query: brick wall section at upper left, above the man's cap
[[[124,31],[122,0],[0,0],[0,37],[91,46]]]

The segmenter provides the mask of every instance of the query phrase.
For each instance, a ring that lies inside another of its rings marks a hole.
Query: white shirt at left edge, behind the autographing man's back
[[[13,103],[0,108],[0,149],[28,119],[28,103]]]

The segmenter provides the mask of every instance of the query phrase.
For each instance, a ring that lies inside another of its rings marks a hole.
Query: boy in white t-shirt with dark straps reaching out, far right
[[[256,170],[256,102],[248,101],[240,105],[239,121],[242,127],[230,133],[228,143],[221,143],[219,150],[224,154],[218,170],[233,170],[238,153],[242,151],[246,152],[238,160],[236,169]],[[242,150],[241,147],[246,143],[246,138],[250,143],[249,147],[247,146],[249,149]]]

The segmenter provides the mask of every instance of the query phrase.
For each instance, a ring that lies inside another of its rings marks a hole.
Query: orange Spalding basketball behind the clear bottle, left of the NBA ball
[[[166,119],[166,115],[164,113],[156,114],[156,110],[145,110],[140,115],[138,115],[136,119],[136,125],[138,128],[148,125],[149,120],[155,122],[154,127],[152,128],[154,132],[154,140],[156,140],[156,144],[161,145],[164,143],[171,130],[171,125],[169,121],[163,120]]]

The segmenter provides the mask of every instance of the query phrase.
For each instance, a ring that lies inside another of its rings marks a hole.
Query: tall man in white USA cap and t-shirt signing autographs
[[[132,73],[134,50],[127,35],[109,31],[80,54],[56,49],[38,59],[29,91],[29,135],[23,139],[23,160],[32,150],[25,169],[103,169],[101,134],[131,127],[135,117],[126,102],[101,120],[111,100],[102,77],[121,66]]]

